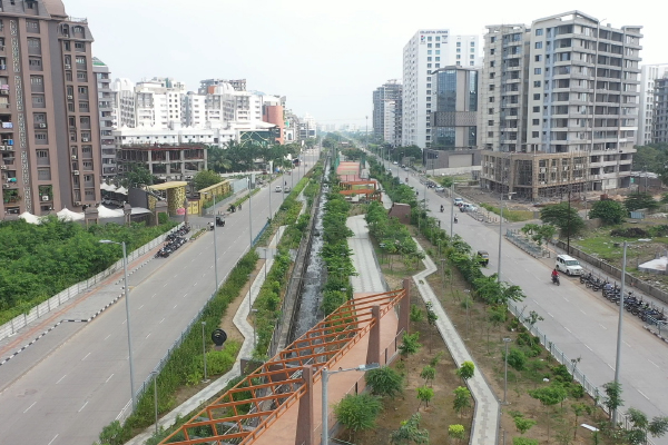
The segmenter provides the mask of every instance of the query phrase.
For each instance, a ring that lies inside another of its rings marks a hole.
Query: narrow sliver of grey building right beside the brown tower
[[[97,78],[98,108],[100,119],[100,148],[102,180],[116,176],[116,145],[114,144],[114,98],[109,67],[97,57],[92,58],[92,72]]]

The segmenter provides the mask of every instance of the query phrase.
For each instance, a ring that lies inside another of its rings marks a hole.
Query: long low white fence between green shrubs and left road
[[[179,224],[177,227],[175,227],[169,233],[178,230],[181,227],[181,225],[183,225],[183,222]],[[128,255],[128,264],[130,261],[134,261],[135,259],[139,258],[147,251],[151,250],[156,246],[163,244],[163,241],[165,240],[165,238],[167,237],[167,235],[169,233],[165,233],[165,234],[160,235],[159,237],[155,238],[150,243],[145,244],[144,246],[139,247],[137,250],[130,253]],[[81,293],[90,289],[91,287],[97,286],[102,280],[107,279],[108,277],[114,275],[116,271],[121,270],[121,269],[122,269],[122,258],[119,259],[118,261],[116,261],[114,265],[111,265],[106,270],[102,270],[101,273],[97,274],[96,276],[90,277],[84,281],[77,283],[76,285],[70,286],[67,289],[60,291],[59,294],[52,296],[48,300],[40,303],[39,305],[37,305],[36,307],[30,309],[27,314],[22,314],[22,315],[19,315],[17,317],[12,318],[8,323],[0,326],[0,340],[14,335],[19,329],[28,326],[30,323],[32,323],[37,319],[43,317],[45,315],[49,314],[51,310],[58,308],[59,306],[63,305],[65,303],[69,301],[70,299],[77,297]]]

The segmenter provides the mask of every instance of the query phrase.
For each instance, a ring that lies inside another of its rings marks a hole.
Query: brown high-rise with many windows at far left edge
[[[0,217],[100,200],[92,36],[60,0],[0,8]]]

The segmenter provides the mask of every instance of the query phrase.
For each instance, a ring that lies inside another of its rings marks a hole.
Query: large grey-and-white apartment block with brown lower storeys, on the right
[[[628,187],[641,37],[579,11],[488,27],[482,185],[530,199]]]

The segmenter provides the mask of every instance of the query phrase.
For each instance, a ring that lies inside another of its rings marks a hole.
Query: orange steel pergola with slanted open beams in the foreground
[[[318,382],[324,366],[332,368],[406,295],[404,288],[346,301],[160,444],[254,443],[306,394],[304,366],[311,366],[313,383]],[[379,316],[372,314],[374,307]]]

